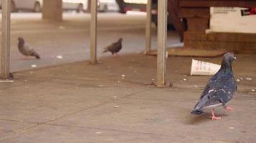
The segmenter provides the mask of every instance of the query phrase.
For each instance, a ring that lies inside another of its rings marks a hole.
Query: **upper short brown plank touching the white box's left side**
[[[209,8],[183,8],[178,15],[180,18],[210,18]]]

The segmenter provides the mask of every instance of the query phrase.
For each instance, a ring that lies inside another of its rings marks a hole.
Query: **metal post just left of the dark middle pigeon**
[[[91,64],[97,63],[97,0],[91,1]]]

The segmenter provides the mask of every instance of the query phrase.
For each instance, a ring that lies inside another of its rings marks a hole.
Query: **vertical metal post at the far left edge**
[[[1,0],[0,78],[9,78],[11,0]]]

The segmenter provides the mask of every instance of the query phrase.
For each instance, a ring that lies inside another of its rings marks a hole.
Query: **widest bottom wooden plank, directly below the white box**
[[[211,33],[186,31],[184,47],[192,49],[227,49],[237,53],[256,54],[256,34]]]

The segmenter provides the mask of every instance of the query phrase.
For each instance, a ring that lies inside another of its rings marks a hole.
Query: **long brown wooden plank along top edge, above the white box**
[[[180,0],[180,7],[210,7],[210,6],[253,7],[253,6],[256,6],[256,1]]]

